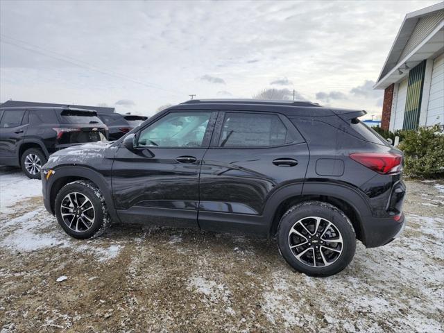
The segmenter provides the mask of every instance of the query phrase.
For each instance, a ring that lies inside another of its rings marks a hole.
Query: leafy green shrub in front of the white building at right
[[[440,126],[402,131],[404,172],[415,178],[444,177],[444,133]]]

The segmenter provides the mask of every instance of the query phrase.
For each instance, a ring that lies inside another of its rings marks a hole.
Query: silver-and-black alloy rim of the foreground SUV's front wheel
[[[96,217],[91,200],[79,192],[71,192],[63,198],[60,214],[68,228],[75,232],[89,230]]]

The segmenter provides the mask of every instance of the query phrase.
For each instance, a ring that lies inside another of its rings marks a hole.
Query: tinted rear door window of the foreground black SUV
[[[219,146],[266,147],[291,142],[291,133],[276,114],[227,113]]]

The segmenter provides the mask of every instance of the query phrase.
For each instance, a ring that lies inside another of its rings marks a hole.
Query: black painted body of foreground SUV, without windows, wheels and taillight
[[[369,142],[352,129],[350,117],[359,117],[361,111],[272,103],[187,103],[156,114],[130,133],[137,138],[141,130],[165,114],[187,111],[212,111],[217,116],[205,136],[207,144],[200,148],[129,151],[119,139],[103,148],[83,150],[85,157],[79,157],[76,148],[56,153],[60,160],[51,157],[45,166],[46,170],[56,169],[46,184],[44,180],[46,207],[51,211],[53,204],[47,192],[68,174],[65,168],[71,168],[73,175],[100,182],[113,218],[123,223],[200,227],[267,237],[275,232],[272,225],[282,203],[316,198],[348,205],[368,247],[386,244],[402,227],[403,216],[393,219],[400,214],[405,195],[400,175],[380,175],[349,157],[355,152],[399,153],[384,142]],[[228,112],[277,114],[300,139],[280,146],[220,146],[223,117]],[[196,161],[178,162],[177,157],[183,155],[192,155]],[[296,164],[278,165],[276,160]]]

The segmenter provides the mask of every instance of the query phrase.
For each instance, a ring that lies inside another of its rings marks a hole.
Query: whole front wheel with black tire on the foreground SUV
[[[69,198],[68,195],[70,195]],[[84,198],[89,200],[89,203]],[[64,207],[62,207],[62,203]],[[72,209],[68,209],[71,205]],[[84,212],[80,212],[82,207],[85,210]],[[63,230],[69,236],[77,239],[99,237],[110,225],[110,217],[101,191],[92,182],[85,180],[76,180],[62,187],[56,196],[54,210],[56,211],[57,221]],[[80,212],[80,214],[71,214],[77,212]],[[94,218],[92,218],[92,212]],[[90,225],[88,223],[89,219],[92,219]],[[71,225],[71,228],[69,225]]]

